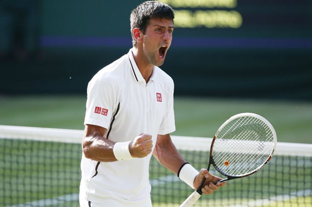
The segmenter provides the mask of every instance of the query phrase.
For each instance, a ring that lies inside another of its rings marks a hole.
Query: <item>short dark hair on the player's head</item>
[[[147,1],[137,6],[137,8],[132,10],[130,15],[130,31],[133,46],[136,44],[136,40],[133,37],[134,28],[138,28],[145,34],[145,29],[149,21],[153,18],[169,19],[173,21],[175,14],[170,6],[162,2]]]

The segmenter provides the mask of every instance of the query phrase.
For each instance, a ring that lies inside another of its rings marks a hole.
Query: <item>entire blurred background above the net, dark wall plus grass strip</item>
[[[132,47],[143,1],[0,1],[0,124],[83,129],[89,80]],[[312,143],[312,2],[166,0],[177,131],[211,137],[240,112]]]

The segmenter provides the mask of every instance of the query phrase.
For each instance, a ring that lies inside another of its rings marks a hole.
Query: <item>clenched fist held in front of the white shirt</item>
[[[152,148],[152,140],[150,134],[141,134],[134,138],[129,144],[129,151],[132,157],[146,157]]]

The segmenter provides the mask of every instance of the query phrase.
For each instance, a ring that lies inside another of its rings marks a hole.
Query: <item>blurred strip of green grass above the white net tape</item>
[[[85,96],[0,96],[0,124],[84,129]],[[312,143],[312,103],[175,97],[173,135],[213,137],[230,116],[253,112],[268,119],[278,141]]]

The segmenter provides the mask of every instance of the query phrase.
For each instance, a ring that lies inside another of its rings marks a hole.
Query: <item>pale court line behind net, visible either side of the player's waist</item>
[[[168,176],[162,176],[155,179],[150,179],[150,185],[151,186],[157,186],[160,184],[165,184],[168,182],[177,182],[180,179],[177,177],[177,175],[168,175]],[[62,195],[54,198],[47,198],[47,199],[41,199],[41,200],[35,200],[23,204],[17,204],[17,205],[9,205],[6,207],[42,207],[42,206],[49,206],[49,205],[59,205],[64,202],[71,202],[79,200],[79,193],[73,193],[73,194],[67,194]]]

